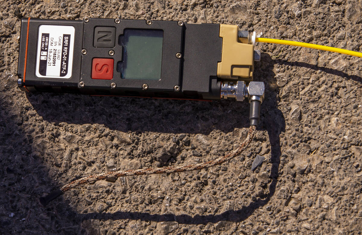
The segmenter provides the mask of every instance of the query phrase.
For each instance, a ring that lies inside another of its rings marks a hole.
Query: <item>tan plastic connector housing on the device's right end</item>
[[[239,42],[237,32],[237,25],[220,24],[219,36],[223,38],[223,46],[217,75],[226,80],[252,81],[254,46]]]

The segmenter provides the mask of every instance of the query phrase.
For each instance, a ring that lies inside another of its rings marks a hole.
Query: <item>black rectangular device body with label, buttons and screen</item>
[[[219,24],[177,21],[23,18],[18,85],[40,92],[219,100],[219,30]]]

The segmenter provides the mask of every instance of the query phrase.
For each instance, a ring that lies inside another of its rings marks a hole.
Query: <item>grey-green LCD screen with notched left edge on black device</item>
[[[125,29],[118,44],[123,55],[117,71],[123,79],[161,79],[163,30]]]

